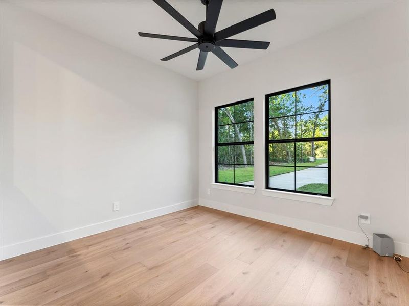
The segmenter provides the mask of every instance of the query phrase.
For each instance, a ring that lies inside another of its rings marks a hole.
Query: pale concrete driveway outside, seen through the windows
[[[328,164],[322,164],[321,167],[328,167]],[[328,169],[311,167],[305,170],[297,171],[297,188],[311,183],[328,184]],[[242,184],[254,185],[254,181]],[[270,187],[287,190],[294,190],[294,172],[284,173],[270,177]]]

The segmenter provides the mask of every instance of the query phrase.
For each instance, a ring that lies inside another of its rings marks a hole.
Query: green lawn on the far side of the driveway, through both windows
[[[325,163],[327,163],[327,159],[317,159],[315,162],[298,163],[297,166],[315,167],[315,166],[322,165]],[[300,170],[304,170],[304,168],[297,168],[297,171],[300,171]],[[293,167],[270,166],[270,177],[275,176],[275,175],[284,174],[284,173],[289,173],[292,171],[294,171]],[[237,168],[235,176],[236,176],[236,183],[253,181],[254,180],[254,168],[253,167]],[[219,182],[234,183],[233,182],[233,170],[232,169],[220,170],[219,171]],[[308,184],[308,185],[311,185],[311,184]]]

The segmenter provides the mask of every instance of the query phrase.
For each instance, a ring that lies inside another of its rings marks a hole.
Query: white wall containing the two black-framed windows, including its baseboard
[[[199,203],[366,243],[387,233],[409,256],[407,8],[397,4],[199,83]],[[282,29],[285,31],[285,29]],[[274,41],[272,42],[274,43]],[[332,206],[265,197],[264,95],[331,79]],[[255,99],[256,194],[212,189],[214,106]]]

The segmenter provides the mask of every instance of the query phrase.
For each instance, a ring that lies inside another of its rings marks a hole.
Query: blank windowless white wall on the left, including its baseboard
[[[197,203],[195,81],[0,14],[1,258]]]

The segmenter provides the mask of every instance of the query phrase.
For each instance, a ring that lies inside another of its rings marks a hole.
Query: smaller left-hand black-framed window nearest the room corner
[[[216,183],[254,186],[254,102],[215,109]]]

